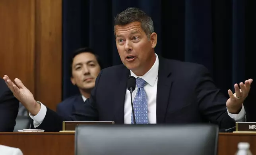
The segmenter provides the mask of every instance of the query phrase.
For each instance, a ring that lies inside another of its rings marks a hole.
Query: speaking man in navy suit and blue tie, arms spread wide
[[[154,48],[157,34],[153,21],[143,11],[128,8],[116,16],[116,47],[123,64],[103,69],[98,75],[91,97],[66,121],[114,121],[132,124],[132,106],[127,78],[136,77],[132,93],[137,124],[215,123],[220,128],[246,121],[243,102],[252,79],[235,84],[235,93],[228,90],[225,98],[207,69],[199,64],[158,57]],[[46,131],[62,130],[62,121],[55,112],[36,102],[19,79],[17,86],[8,76],[8,87],[24,104],[34,120],[34,127]]]

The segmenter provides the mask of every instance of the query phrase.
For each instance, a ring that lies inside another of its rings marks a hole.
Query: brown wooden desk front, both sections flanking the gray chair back
[[[218,155],[234,155],[239,142],[249,142],[256,154],[256,133],[219,133]],[[24,155],[74,155],[72,132],[0,132],[0,144],[21,149]]]

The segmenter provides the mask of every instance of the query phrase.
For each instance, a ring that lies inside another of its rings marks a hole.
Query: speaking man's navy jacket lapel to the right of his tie
[[[159,69],[157,80],[157,124],[165,123],[165,116],[169,104],[169,95],[173,80],[171,76],[171,66],[165,59],[159,57]]]

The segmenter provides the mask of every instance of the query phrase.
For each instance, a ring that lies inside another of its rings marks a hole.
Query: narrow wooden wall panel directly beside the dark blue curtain
[[[62,0],[36,1],[35,96],[55,110],[62,89]]]

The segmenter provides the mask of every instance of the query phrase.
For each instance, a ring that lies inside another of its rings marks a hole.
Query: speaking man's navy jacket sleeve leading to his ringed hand
[[[227,97],[220,89],[217,89],[211,79],[208,70],[202,66],[196,72],[196,93],[202,115],[211,123],[218,124],[221,129],[228,129],[235,126],[235,120],[227,113]]]

